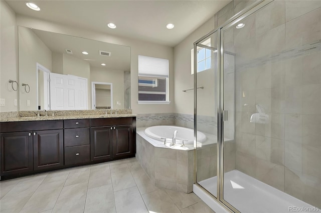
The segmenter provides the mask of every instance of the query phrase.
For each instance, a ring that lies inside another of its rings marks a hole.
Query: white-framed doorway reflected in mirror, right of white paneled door
[[[112,83],[91,82],[92,84],[92,109],[113,108]]]

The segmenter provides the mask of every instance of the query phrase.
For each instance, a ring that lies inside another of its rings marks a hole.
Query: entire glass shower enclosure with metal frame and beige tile
[[[196,185],[228,210],[321,208],[320,6],[258,1],[194,43]]]

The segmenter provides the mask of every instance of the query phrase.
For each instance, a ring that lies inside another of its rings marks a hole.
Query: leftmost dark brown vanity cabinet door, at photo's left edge
[[[32,131],[1,133],[0,175],[33,170]]]

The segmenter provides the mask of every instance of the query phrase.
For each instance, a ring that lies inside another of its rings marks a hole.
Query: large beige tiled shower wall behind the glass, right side
[[[273,1],[244,19],[246,32],[230,32],[236,53],[236,168],[317,207],[320,6],[319,0]],[[266,123],[250,122],[256,104],[264,106]]]

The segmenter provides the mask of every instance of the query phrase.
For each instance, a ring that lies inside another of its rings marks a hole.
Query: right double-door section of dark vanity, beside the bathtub
[[[135,117],[91,120],[91,160],[111,160],[134,156]]]

